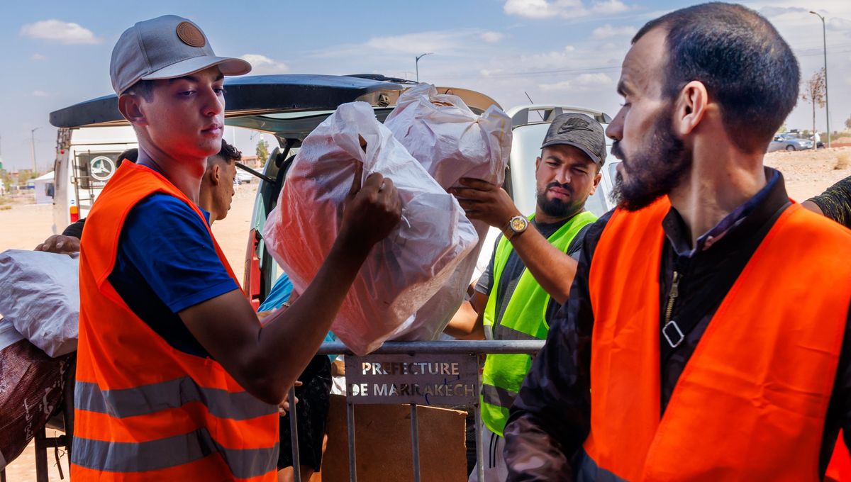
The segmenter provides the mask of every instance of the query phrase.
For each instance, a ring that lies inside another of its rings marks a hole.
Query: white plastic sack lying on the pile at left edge
[[[53,358],[77,349],[79,266],[76,254],[0,253],[0,314]]]

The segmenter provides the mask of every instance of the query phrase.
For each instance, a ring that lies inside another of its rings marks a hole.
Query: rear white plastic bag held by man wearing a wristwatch
[[[460,97],[437,94],[434,86],[421,83],[399,97],[385,126],[443,188],[460,185],[460,178],[500,185],[505,179],[511,154],[511,117],[496,105],[479,116]],[[475,249],[417,311],[414,320],[408,320],[391,339],[434,340],[443,332],[464,300],[488,234],[488,224],[472,224],[480,240]]]

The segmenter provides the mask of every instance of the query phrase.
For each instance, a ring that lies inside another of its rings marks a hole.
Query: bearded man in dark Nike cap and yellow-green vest
[[[451,190],[467,216],[500,228],[488,269],[476,292],[450,321],[455,337],[495,340],[545,339],[546,319],[568,298],[585,228],[597,217],[585,201],[600,182],[606,159],[603,127],[584,114],[557,116],[535,161],[538,202],[523,217],[500,186],[462,179]],[[532,228],[532,229],[529,229]],[[489,354],[482,388],[482,420],[491,446],[485,480],[505,480],[502,432],[508,409],[531,365],[528,354]],[[477,472],[471,473],[477,480]]]

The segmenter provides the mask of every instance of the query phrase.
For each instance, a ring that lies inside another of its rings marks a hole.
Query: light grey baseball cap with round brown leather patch
[[[204,32],[190,20],[163,15],[130,27],[112,48],[109,73],[121,95],[140,80],[173,79],[218,65],[226,76],[251,71],[242,59],[216,57]]]

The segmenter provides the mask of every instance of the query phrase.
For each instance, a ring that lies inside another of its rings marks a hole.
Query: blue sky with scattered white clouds
[[[631,34],[660,14],[694,2],[665,0],[432,0],[430,2],[3,2],[0,6],[0,156],[31,167],[31,128],[40,169],[53,162],[50,111],[110,94],[113,44],[137,20],[178,14],[197,22],[217,54],[242,56],[253,73],[381,73],[471,88],[504,108],[583,105],[614,115],[614,84]],[[745,5],[768,16],[798,54],[802,75],[823,63],[827,23],[831,127],[851,116],[851,1],[791,0]],[[758,122],[755,119],[754,122]],[[787,124],[809,128],[799,102]],[[816,117],[824,129],[825,112]],[[226,133],[234,139],[233,133]],[[257,138],[237,133],[254,153]],[[271,138],[269,138],[271,139]]]

